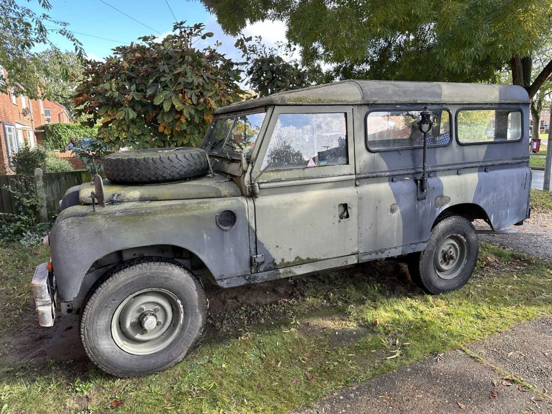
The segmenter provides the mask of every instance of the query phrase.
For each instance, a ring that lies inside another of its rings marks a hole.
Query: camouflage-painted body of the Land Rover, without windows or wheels
[[[365,116],[374,108],[424,105],[452,114],[452,139],[428,148],[427,198],[419,200],[422,149],[369,151]],[[460,145],[455,113],[468,107],[521,110],[522,139]],[[485,219],[494,230],[529,215],[529,101],[523,88],[345,81],[233,104],[215,116],[261,109],[267,115],[251,160],[220,157],[214,162],[220,176],[144,186],[106,183],[106,198],[118,194],[121,202],[95,212],[88,205],[91,187],[83,184],[80,205],[63,210],[50,233],[61,301],[78,307],[105,270],[140,255],[178,258],[229,287],[421,251],[437,217],[449,212]],[[278,114],[316,112],[346,113],[349,163],[262,172]],[[66,197],[71,193],[75,197],[75,189]],[[348,218],[340,219],[343,205]],[[215,221],[224,210],[237,217],[228,231]]]

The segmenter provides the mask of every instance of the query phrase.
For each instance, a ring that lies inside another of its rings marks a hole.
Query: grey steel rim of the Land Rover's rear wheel
[[[468,241],[459,234],[452,234],[439,243],[433,263],[438,277],[450,280],[457,277],[468,259]]]

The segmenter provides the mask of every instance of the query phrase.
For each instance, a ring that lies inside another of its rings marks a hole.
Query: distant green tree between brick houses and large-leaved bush
[[[48,49],[36,55],[43,66],[43,92],[48,99],[62,104],[75,116],[73,95],[81,77],[83,65],[77,54]]]

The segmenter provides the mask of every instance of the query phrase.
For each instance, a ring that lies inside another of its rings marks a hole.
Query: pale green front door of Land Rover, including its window
[[[263,255],[253,270],[357,254],[351,107],[275,108],[251,181],[259,185],[255,230]]]

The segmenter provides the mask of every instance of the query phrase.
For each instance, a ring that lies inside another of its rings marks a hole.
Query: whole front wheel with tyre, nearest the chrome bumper
[[[205,292],[190,270],[143,258],[116,269],[88,297],[81,341],[88,357],[109,374],[151,374],[188,353],[205,313]]]

